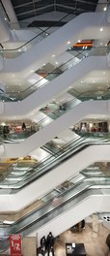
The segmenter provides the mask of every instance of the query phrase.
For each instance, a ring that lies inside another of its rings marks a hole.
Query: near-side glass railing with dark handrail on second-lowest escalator
[[[78,138],[77,140],[71,141],[69,144],[65,144],[62,149],[59,150],[58,153],[46,157],[46,159],[43,159],[37,166],[32,168],[30,176],[25,176],[20,180],[20,181],[15,181],[14,184],[12,185],[12,181],[5,178],[3,184],[0,182],[0,187],[1,188],[14,188],[18,189],[24,185],[26,185],[28,182],[31,182],[38,178],[39,176],[42,176],[43,174],[47,173],[48,170],[51,170],[56,164],[60,164],[60,162],[64,159],[67,159],[67,157],[70,157],[73,153],[84,149],[85,146],[89,146],[90,144],[109,144],[109,141],[103,141],[103,139],[87,139],[85,138]],[[34,169],[34,171],[33,171]],[[14,192],[14,191],[13,191]]]

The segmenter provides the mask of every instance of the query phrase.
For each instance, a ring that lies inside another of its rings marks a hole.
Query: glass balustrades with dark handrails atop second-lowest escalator
[[[23,164],[22,162],[22,165],[20,165],[19,161],[16,161],[13,166],[6,168],[5,175],[1,176],[0,179],[0,188],[10,188],[10,193],[15,193],[17,192],[17,189],[20,189],[29,182],[45,175],[47,172],[51,172],[52,169],[55,166],[60,165],[62,161],[69,159],[73,154],[83,150],[91,144],[110,144],[110,140],[109,138],[104,138],[104,136],[97,138],[76,137],[68,144],[61,146],[61,148],[59,148],[59,146],[57,148],[55,145],[53,149],[51,143],[49,143],[48,147],[50,147],[51,154],[46,158],[43,158],[40,162],[35,163],[33,167],[28,166],[28,162],[27,166],[25,166],[25,163]]]

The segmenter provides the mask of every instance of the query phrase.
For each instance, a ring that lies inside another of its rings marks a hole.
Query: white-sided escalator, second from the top
[[[95,48],[94,48],[95,49]],[[38,111],[41,109],[41,107],[44,106],[47,102],[51,101],[52,98],[58,97],[59,94],[63,91],[67,91],[69,86],[73,86],[74,82],[77,82],[77,80],[81,80],[84,76],[87,74],[90,74],[91,72],[94,72],[96,70],[107,70],[107,58],[106,54],[109,52],[109,48],[102,48],[105,49],[104,53],[102,55],[99,55],[98,49],[96,56],[94,55],[94,49],[93,49],[93,55],[90,57],[84,57],[83,53],[79,53],[79,56],[82,56],[82,61],[77,62],[77,65],[74,65],[71,63],[71,67],[69,68],[68,63],[62,65],[62,69],[64,68],[63,74],[60,76],[57,76],[57,78],[54,79],[53,73],[51,74],[53,80],[46,80],[41,79],[37,83],[31,85],[29,88],[25,90],[21,90],[18,92],[18,94],[15,96],[16,102],[1,102],[1,114],[4,114],[4,106],[5,106],[5,115],[10,118],[12,116],[24,116],[24,115],[30,115],[32,111]],[[77,58],[79,57],[77,56]],[[84,59],[83,59],[84,57]],[[74,58],[72,59],[72,61]],[[69,61],[70,62],[70,61]],[[64,66],[64,67],[63,67]],[[57,86],[59,84],[59,86]],[[19,98],[19,95],[22,95],[22,98],[25,98],[24,100],[21,100]],[[9,92],[10,94],[10,92]],[[23,96],[24,95],[24,96]],[[14,95],[12,96],[14,97]]]

